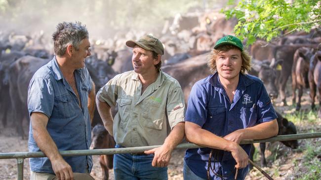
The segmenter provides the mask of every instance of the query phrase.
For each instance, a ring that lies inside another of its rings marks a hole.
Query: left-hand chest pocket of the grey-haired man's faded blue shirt
[[[72,97],[69,93],[55,96],[52,117],[58,119],[69,119],[76,116],[73,108]]]

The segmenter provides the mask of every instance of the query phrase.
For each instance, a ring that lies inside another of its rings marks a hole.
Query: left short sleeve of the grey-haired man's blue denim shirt
[[[50,79],[33,78],[28,88],[28,111],[29,115],[33,112],[45,114],[51,117],[54,105],[54,90]]]

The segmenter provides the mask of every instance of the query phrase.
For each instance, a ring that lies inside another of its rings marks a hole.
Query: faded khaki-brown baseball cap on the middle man
[[[154,51],[159,55],[164,54],[164,47],[161,41],[152,35],[144,35],[141,38],[139,38],[138,41],[134,41],[134,40],[126,41],[126,46],[130,48],[135,47],[135,45],[138,45],[148,51]]]

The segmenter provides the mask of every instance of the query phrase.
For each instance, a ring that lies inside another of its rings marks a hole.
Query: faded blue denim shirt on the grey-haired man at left
[[[56,57],[34,74],[28,89],[28,111],[45,114],[49,120],[47,131],[58,150],[88,150],[91,143],[91,126],[87,108],[88,93],[91,90],[91,78],[87,68],[75,70],[79,101],[71,86],[64,79]],[[30,122],[29,151],[40,151],[37,146]],[[73,172],[91,171],[91,156],[65,156]],[[30,158],[30,169],[34,172],[54,174],[47,157]]]

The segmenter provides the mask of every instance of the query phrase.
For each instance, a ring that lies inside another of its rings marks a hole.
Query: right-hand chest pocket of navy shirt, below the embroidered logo
[[[256,107],[252,108],[241,108],[241,120],[243,123],[243,128],[251,127],[256,123],[257,113]]]

